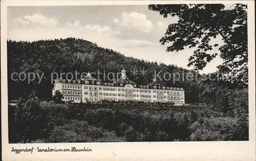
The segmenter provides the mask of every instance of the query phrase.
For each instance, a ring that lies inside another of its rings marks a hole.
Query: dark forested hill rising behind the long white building
[[[145,70],[146,75],[132,76],[129,79],[138,84],[147,84],[153,80],[154,71],[161,71],[160,76],[164,72],[169,73],[187,73],[188,70],[177,67],[170,62],[170,65],[158,64],[157,62],[149,62],[139,60],[132,57],[115,52],[111,49],[98,47],[96,43],[83,39],[67,38],[55,40],[39,40],[33,42],[27,41],[7,41],[8,52],[8,96],[9,99],[17,99],[26,97],[35,92],[40,99],[51,99],[51,72],[56,73],[78,73],[82,72],[120,72],[122,68],[127,72],[130,70]],[[10,76],[13,72],[34,72],[39,76],[43,75],[42,81],[38,84],[38,78],[28,84],[28,80],[12,81]],[[158,73],[157,72],[157,73]],[[129,72],[130,73],[130,72]],[[163,78],[163,77],[162,77]],[[236,88],[236,86],[226,85],[223,82],[208,81],[187,81],[180,80],[173,83],[170,81],[162,82],[167,86],[183,87],[186,90],[186,103],[197,103],[212,101],[216,93],[227,93],[227,90]],[[221,83],[221,84],[220,84]],[[219,90],[220,88],[220,90]],[[223,89],[221,89],[223,88]],[[226,88],[226,89],[224,89]],[[204,94],[204,95],[203,95]],[[219,97],[219,96],[216,96]],[[222,96],[221,96],[222,97]],[[213,100],[216,103],[216,100]]]

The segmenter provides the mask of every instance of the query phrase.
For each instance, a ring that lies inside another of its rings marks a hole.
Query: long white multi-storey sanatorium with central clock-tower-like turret
[[[52,95],[59,90],[63,101],[100,102],[108,101],[144,101],[144,102],[173,102],[175,105],[185,104],[183,88],[166,87],[153,80],[147,85],[138,85],[126,77],[125,70],[121,78],[113,83],[102,82],[92,77],[90,73],[79,81],[55,80]]]

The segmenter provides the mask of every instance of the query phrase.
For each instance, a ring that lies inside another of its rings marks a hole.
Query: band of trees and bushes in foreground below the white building
[[[62,104],[30,96],[9,105],[9,142],[246,141],[248,91],[229,95],[226,113],[208,105]]]

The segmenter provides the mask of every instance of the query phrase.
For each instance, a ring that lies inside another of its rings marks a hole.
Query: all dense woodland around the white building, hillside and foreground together
[[[174,64],[148,62],[82,39],[7,41],[9,142],[123,142],[248,140],[248,88],[225,80],[163,81],[185,90],[186,106],[166,103],[59,103],[52,98],[51,73],[147,70],[129,79],[150,83],[154,71],[188,73]],[[172,63],[172,62],[170,62]],[[17,72],[44,73],[28,83]],[[161,75],[161,74],[160,74]],[[208,75],[209,76],[209,75]],[[209,77],[218,77],[217,73]],[[34,128],[37,127],[37,128]]]

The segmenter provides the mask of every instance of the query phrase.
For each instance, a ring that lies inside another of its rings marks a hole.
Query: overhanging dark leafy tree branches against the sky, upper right
[[[149,5],[148,9],[165,18],[179,18],[160,39],[161,44],[172,42],[166,52],[197,48],[188,59],[188,66],[194,65],[195,70],[202,70],[219,55],[224,62],[218,68],[229,80],[236,77],[248,82],[247,5],[234,4],[228,9],[223,4]],[[223,43],[211,44],[217,36]]]

